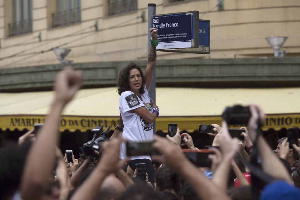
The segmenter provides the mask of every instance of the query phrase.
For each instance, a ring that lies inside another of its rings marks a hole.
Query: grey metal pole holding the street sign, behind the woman
[[[155,3],[148,3],[148,30],[150,28],[152,28],[152,15],[155,15],[155,13],[156,13],[156,4]],[[151,34],[148,31],[148,56],[149,56],[150,47],[151,47],[150,37],[151,37]],[[150,87],[148,89],[149,97],[154,100],[154,103],[156,103],[156,98],[155,98],[155,85],[156,84],[155,83],[156,83],[156,80],[155,80],[155,66],[154,66],[153,73],[152,73],[151,84],[150,84]],[[156,133],[156,123],[154,121],[153,122],[153,134],[155,134],[155,133]]]

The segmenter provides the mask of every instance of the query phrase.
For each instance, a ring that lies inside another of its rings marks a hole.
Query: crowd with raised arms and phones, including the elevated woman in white
[[[260,131],[265,119],[262,109],[249,105],[251,117],[242,133],[244,140],[232,138],[227,123],[212,124],[214,137],[209,148],[210,167],[197,167],[183,153],[182,136],[191,152],[194,146],[188,133],[173,137],[153,136],[152,123],[159,115],[148,88],[156,61],[157,29],[150,29],[151,44],[145,75],[134,63],[124,68],[118,79],[120,123],[112,137],[104,141],[98,159],[80,153],[68,162],[58,144],[59,119],[82,83],[82,74],[72,68],[58,73],[46,124],[19,138],[0,152],[1,199],[59,200],[210,200],[210,199],[300,199],[300,147],[289,146],[281,138],[275,151]],[[201,122],[199,122],[201,123]],[[153,141],[156,155],[129,158],[128,141]],[[300,143],[300,140],[299,140]],[[137,173],[144,163],[146,179]]]

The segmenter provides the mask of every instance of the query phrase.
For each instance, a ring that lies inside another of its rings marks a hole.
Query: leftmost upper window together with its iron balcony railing
[[[32,32],[32,0],[12,0],[12,13],[9,36]]]

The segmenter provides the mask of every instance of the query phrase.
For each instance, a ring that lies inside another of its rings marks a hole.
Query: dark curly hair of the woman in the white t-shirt
[[[138,71],[140,71],[141,77],[142,77],[142,86],[140,88],[140,93],[143,94],[145,93],[145,78],[144,78],[144,74],[141,70],[141,68],[139,68],[137,66],[137,64],[135,63],[129,63],[128,66],[126,68],[123,68],[121,70],[121,72],[119,73],[119,77],[118,77],[118,94],[121,95],[121,93],[130,90],[129,88],[129,75],[130,75],[130,70],[132,69],[138,69]]]

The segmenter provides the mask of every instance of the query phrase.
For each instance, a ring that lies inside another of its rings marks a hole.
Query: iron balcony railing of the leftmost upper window
[[[9,36],[32,32],[32,19],[8,24]]]

